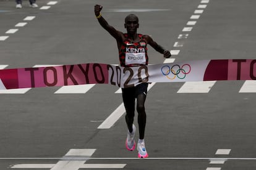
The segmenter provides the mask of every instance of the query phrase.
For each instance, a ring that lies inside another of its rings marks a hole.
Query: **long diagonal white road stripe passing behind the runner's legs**
[[[153,87],[155,83],[148,84],[148,91]],[[111,113],[111,115],[108,116],[108,118],[103,121],[103,123],[98,126],[98,129],[109,129],[118,121],[119,118],[121,118],[122,115],[126,113],[126,109],[124,108],[124,103],[121,103],[119,107],[116,108],[116,110]]]

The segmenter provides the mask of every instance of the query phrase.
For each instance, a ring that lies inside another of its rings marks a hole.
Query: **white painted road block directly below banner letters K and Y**
[[[74,86],[62,86],[54,94],[85,94],[88,92],[95,84],[82,84]]]

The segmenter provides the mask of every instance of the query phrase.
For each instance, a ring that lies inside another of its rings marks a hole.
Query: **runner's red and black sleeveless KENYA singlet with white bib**
[[[132,42],[128,39],[128,35],[119,49],[119,61],[122,67],[135,67],[140,65],[148,65],[147,41],[143,39],[142,34],[138,34],[140,41]]]

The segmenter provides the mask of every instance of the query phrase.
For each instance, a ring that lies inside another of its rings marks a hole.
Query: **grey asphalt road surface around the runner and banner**
[[[98,24],[95,4],[121,31],[126,15],[137,14],[139,33],[178,51],[175,62],[255,58],[256,1],[48,2],[38,0],[40,7],[32,9],[24,1],[15,9],[14,1],[0,0],[2,67],[118,63],[116,42]],[[20,22],[27,24],[15,26]],[[10,29],[18,30],[6,33]],[[150,63],[164,62],[151,47],[148,53]],[[122,104],[117,87],[96,84],[77,94],[58,93],[59,87],[2,92],[0,169],[255,169],[256,94],[239,92],[243,84],[217,81],[205,93],[190,93],[178,92],[184,83],[156,83],[146,102],[150,157],[143,160],[125,148],[124,115],[110,128],[98,128]]]

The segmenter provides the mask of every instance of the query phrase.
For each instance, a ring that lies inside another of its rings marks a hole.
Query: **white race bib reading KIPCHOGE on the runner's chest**
[[[126,52],[126,65],[130,65],[130,64],[145,65],[146,64],[145,52],[138,52],[138,53]]]

